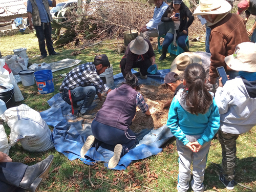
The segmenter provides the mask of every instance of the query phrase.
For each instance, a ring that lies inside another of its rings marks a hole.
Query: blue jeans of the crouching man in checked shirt
[[[97,93],[97,88],[95,86],[77,87],[70,90],[70,92],[73,103],[83,100],[83,103],[80,106],[80,113],[84,115],[89,111],[89,108],[93,103],[94,97]],[[60,92],[60,97],[67,103],[71,104],[68,90]]]

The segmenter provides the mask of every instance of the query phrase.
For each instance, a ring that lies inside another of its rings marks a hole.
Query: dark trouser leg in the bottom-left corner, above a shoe
[[[5,192],[23,192],[19,188],[28,165],[23,163],[0,163],[0,191]]]

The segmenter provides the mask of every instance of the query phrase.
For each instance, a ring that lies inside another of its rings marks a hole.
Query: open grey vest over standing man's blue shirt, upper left
[[[28,1],[30,1],[31,4],[32,4],[32,9],[33,9],[33,12],[32,12],[33,25],[34,26],[40,26],[41,25],[41,19],[40,19],[40,16],[39,16],[39,11],[38,11],[38,7],[36,5],[36,2],[35,2],[35,0],[28,0]],[[42,0],[42,3],[44,4],[44,6],[46,8],[46,12],[47,12],[47,14],[49,16],[49,19],[52,22],[53,19],[52,19],[52,15],[50,13],[48,1],[47,0]]]

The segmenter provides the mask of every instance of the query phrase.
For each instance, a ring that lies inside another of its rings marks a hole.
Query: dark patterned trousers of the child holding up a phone
[[[237,142],[239,135],[218,131],[222,149],[222,175],[228,180],[234,179],[234,167],[236,166]]]

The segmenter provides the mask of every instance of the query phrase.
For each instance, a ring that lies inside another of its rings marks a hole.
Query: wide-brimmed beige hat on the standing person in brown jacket
[[[193,15],[222,14],[231,10],[231,5],[225,0],[200,0]]]

